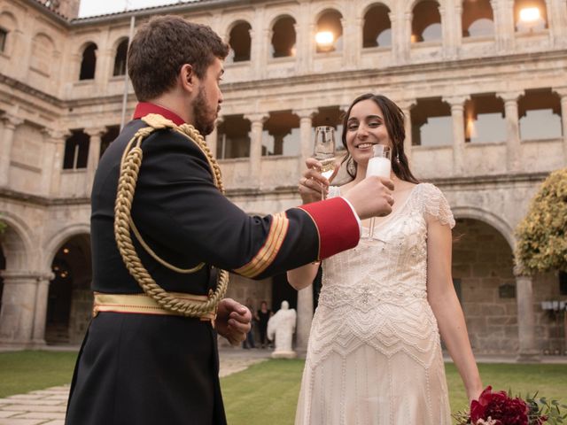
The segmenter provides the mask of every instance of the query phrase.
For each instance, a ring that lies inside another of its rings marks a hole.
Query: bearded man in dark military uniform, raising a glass
[[[93,185],[92,288],[99,313],[77,359],[67,425],[226,423],[216,337],[243,341],[251,313],[229,298],[218,304],[216,321],[214,312],[187,318],[162,308],[128,273],[114,239],[120,158],[136,131],[147,127],[141,120],[147,114],[171,123],[142,143],[132,221],[167,263],[206,266],[178,273],[139,243],[135,248],[151,278],[180,297],[206,302],[215,288],[214,267],[263,279],[350,249],[359,241],[359,218],[391,211],[392,183],[378,178],[361,182],[348,198],[266,217],[250,217],[224,197],[214,185],[214,159],[175,126],[188,123],[201,135],[214,129],[228,52],[209,27],[172,16],[151,19],[132,40],[128,73],[140,103],[105,151]]]

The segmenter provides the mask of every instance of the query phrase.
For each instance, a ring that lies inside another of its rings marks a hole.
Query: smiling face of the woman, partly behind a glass
[[[392,148],[392,141],[384,123],[384,114],[372,100],[354,104],[346,121],[346,147],[359,166],[372,157],[372,146],[384,144]]]

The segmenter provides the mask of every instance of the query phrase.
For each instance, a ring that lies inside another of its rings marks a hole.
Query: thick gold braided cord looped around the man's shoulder
[[[215,186],[224,193],[221,182],[221,169],[216,163],[214,157],[211,155],[211,151],[206,146],[203,137],[192,126],[183,124],[182,127],[177,127],[172,121],[157,114],[146,115],[142,120],[144,120],[149,127],[140,128],[136,132],[136,135],[134,135],[134,137],[132,137],[132,139],[128,142],[120,160],[120,177],[118,181],[116,203],[114,205],[114,236],[116,238],[116,243],[120,251],[120,256],[128,268],[128,272],[134,276],[136,282],[138,282],[146,295],[153,298],[161,307],[168,311],[184,316],[201,317],[206,313],[214,311],[216,306],[226,294],[229,284],[229,272],[226,270],[219,271],[217,286],[214,292],[209,295],[207,301],[204,302],[176,298],[161,288],[159,284],[151,278],[151,275],[142,264],[141,259],[136,253],[134,244],[132,243],[130,230],[132,229],[134,231],[134,228],[136,228],[131,218],[132,200],[134,199],[134,194],[136,192],[136,182],[144,156],[141,148],[142,142],[144,141],[144,138],[151,135],[151,133],[156,130],[172,128],[187,137],[191,143],[196,143],[199,149],[206,155],[206,159],[211,166]],[[134,233],[135,235],[137,234],[136,237],[138,237],[139,232],[137,232],[137,229]],[[143,241],[141,236],[139,236],[138,240],[140,243]],[[142,244],[144,246],[145,243]],[[147,246],[147,244],[145,245]],[[154,259],[158,257],[155,252],[153,252],[153,254],[155,255],[155,257],[152,255]],[[165,260],[162,261],[163,262],[160,261],[161,264],[166,263],[167,267],[171,266]]]

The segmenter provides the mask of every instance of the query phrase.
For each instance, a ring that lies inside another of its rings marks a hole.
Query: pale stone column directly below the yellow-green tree
[[[533,313],[532,276],[519,272],[515,267],[517,299],[517,361],[540,361],[540,351],[535,344],[535,315]]]

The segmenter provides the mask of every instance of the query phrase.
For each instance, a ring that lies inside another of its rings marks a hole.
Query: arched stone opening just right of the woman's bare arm
[[[517,279],[508,223],[478,208],[454,208],[452,275],[479,354],[504,354],[519,347]]]

